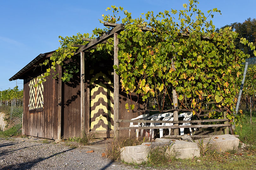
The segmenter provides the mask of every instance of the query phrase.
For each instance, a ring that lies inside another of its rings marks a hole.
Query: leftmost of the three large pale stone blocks
[[[148,160],[149,146],[137,145],[137,146],[125,146],[120,149],[121,160],[128,163],[142,163]]]

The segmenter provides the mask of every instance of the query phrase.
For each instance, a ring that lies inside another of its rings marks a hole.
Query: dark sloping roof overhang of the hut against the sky
[[[55,51],[39,54],[36,58],[34,58],[31,62],[29,62],[25,67],[23,67],[20,71],[18,71],[14,76],[9,78],[9,81],[17,80],[17,79],[25,79],[27,73],[42,63],[46,58],[50,57]]]

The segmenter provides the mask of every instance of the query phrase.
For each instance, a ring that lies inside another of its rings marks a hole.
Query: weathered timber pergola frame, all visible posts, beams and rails
[[[109,27],[113,27],[111,30],[107,31],[106,33],[102,34],[101,36],[95,38],[95,39],[90,39],[90,38],[82,38],[83,41],[88,41],[89,43],[85,44],[85,45],[80,45],[80,44],[74,44],[74,47],[79,47],[79,49],[76,51],[76,54],[80,53],[81,56],[81,138],[84,136],[86,132],[86,130],[88,131],[88,129],[85,129],[85,120],[86,120],[86,116],[85,116],[85,58],[84,58],[84,52],[91,49],[91,48],[96,48],[95,46],[97,44],[100,43],[107,43],[106,40],[108,38],[114,37],[114,65],[119,65],[119,61],[118,61],[118,43],[119,43],[119,39],[117,38],[118,33],[125,30],[125,27],[123,24],[116,24],[116,23],[107,23],[104,22],[103,23],[104,26],[109,26]],[[151,28],[147,28],[147,27],[141,27],[142,31],[150,31],[150,32],[154,32],[153,29]],[[188,38],[189,34],[186,33],[180,33],[181,37],[184,38]],[[209,37],[201,37],[201,39],[206,40],[206,41],[210,41],[211,39]],[[61,70],[61,68],[60,68]],[[59,71],[59,74],[61,74],[61,71]],[[178,128],[184,128],[184,127],[226,127],[225,128],[225,133],[228,133],[228,126],[230,126],[228,124],[228,119],[219,119],[218,121],[224,121],[224,124],[218,124],[218,125],[190,125],[190,126],[178,126],[177,123],[182,123],[184,121],[178,121],[178,109],[176,111],[174,111],[174,121],[131,121],[131,120],[119,120],[119,76],[116,74],[116,71],[114,70],[114,136],[116,138],[119,138],[119,130],[125,130],[125,129],[135,129],[133,127],[119,127],[119,122],[155,122],[155,123],[164,123],[164,122],[168,122],[168,123],[175,123],[174,126],[170,127],[170,126],[166,126],[164,128],[174,128],[174,135],[179,135],[179,130]],[[60,81],[61,82],[61,81]],[[58,120],[61,120],[61,84],[59,83],[59,91],[58,91],[58,99],[59,99],[59,107],[58,107]],[[177,100],[177,93],[175,91],[175,89],[173,89],[173,94],[175,94],[173,96],[174,101],[176,101],[176,103],[178,104],[178,100]],[[176,99],[176,100],[175,100]],[[175,104],[175,103],[174,103]],[[225,115],[225,112],[224,112]],[[192,122],[192,121],[189,121]],[[216,120],[209,120],[207,122],[216,122]],[[136,127],[136,129],[155,129],[156,127]],[[159,127],[157,127],[159,128]],[[162,128],[162,127],[161,127]],[[58,139],[61,139],[61,121],[58,121]]]

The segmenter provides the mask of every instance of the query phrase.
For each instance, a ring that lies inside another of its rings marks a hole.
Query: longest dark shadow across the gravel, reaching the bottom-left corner
[[[34,166],[34,164],[36,164],[38,162],[44,161],[44,160],[49,159],[53,156],[59,155],[61,153],[64,153],[64,152],[67,152],[67,151],[70,151],[70,150],[73,150],[73,149],[75,149],[75,148],[71,148],[71,149],[68,149],[68,150],[64,150],[62,152],[58,152],[58,153],[56,153],[54,155],[51,155],[51,156],[48,156],[46,158],[38,158],[38,159],[35,159],[33,161],[23,162],[23,163],[19,163],[19,164],[15,164],[15,165],[9,165],[9,166],[3,167],[2,170],[26,170],[26,169],[30,169],[31,167]]]

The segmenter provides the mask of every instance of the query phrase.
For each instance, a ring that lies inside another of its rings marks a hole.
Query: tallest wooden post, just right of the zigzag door
[[[114,65],[119,65],[118,61],[118,33],[114,32]],[[114,69],[114,136],[119,138],[119,76]]]

